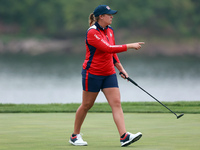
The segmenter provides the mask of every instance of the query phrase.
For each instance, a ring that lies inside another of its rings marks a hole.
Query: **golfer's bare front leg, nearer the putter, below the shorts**
[[[124,114],[121,107],[120,91],[119,88],[105,88],[103,93],[112,108],[113,119],[119,131],[119,135],[122,136],[126,133]]]

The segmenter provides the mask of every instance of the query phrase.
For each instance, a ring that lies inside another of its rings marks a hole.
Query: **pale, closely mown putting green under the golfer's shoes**
[[[129,132],[143,137],[124,149],[199,150],[200,115],[125,113]],[[68,143],[73,132],[75,113],[3,113],[0,114],[1,150],[117,150],[119,135],[111,113],[88,113],[82,127],[88,146]]]

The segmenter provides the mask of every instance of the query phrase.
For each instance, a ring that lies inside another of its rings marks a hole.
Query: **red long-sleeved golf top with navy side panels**
[[[85,45],[83,69],[93,75],[107,76],[116,73],[114,63],[120,62],[116,53],[127,51],[126,45],[115,45],[112,27],[103,29],[97,22],[88,29]]]

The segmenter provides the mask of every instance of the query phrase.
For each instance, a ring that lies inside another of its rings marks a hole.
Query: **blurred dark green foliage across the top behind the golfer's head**
[[[0,25],[16,28],[18,34],[83,35],[89,14],[99,4],[118,10],[115,29],[144,35],[200,35],[199,0],[0,0]],[[0,32],[10,30],[0,28]]]

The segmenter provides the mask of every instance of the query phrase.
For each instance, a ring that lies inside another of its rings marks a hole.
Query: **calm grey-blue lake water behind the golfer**
[[[200,100],[200,58],[119,54],[129,76],[160,101]],[[81,103],[84,54],[0,55],[0,103]],[[155,101],[118,75],[122,101]],[[96,102],[106,102],[102,93]]]

